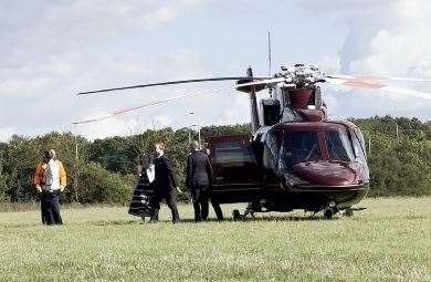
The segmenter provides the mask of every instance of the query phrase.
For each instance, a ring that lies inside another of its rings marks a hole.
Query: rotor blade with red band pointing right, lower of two
[[[326,79],[326,82],[328,82],[330,84],[346,85],[349,87],[381,90],[381,91],[398,94],[398,95],[413,96],[413,97],[431,100],[431,93],[425,93],[425,92],[409,90],[409,88],[402,88],[402,87],[389,86],[389,85],[382,84],[378,81],[370,80],[368,77],[367,79],[359,79],[359,77],[354,77],[354,79],[347,79],[347,77],[339,79],[339,77],[337,77],[337,79],[335,79],[333,76],[333,77]]]

